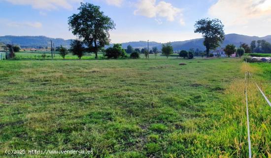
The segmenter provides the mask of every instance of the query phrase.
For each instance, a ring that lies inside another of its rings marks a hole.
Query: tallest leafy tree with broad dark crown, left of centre
[[[109,45],[109,30],[115,28],[114,22],[103,14],[100,6],[91,3],[82,3],[79,13],[68,18],[69,30],[72,31],[87,46],[90,52],[98,52],[105,45]]]

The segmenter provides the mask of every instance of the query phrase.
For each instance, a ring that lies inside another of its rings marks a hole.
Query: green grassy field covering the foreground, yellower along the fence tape
[[[151,58],[0,61],[0,157],[248,157],[244,64]],[[271,98],[271,64],[247,69]],[[248,98],[253,156],[269,158],[271,107],[252,82]]]

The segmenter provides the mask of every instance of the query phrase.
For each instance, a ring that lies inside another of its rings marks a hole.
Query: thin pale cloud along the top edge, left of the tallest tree
[[[72,9],[71,3],[82,0],[5,0],[16,5],[31,5],[35,9],[54,10],[58,8]]]

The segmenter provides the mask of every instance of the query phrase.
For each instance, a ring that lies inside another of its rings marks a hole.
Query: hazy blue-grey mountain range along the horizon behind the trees
[[[49,38],[45,36],[0,36],[0,42],[5,44],[15,44],[20,45],[22,48],[41,48],[41,47],[51,47],[51,42],[53,41],[55,47],[60,45],[69,48],[71,39],[65,40],[62,38]],[[250,44],[253,40],[266,40],[271,43],[271,35],[265,37],[257,37],[257,36],[246,36],[240,34],[227,34],[225,36],[225,40],[222,43],[221,47],[225,47],[228,44],[234,44],[239,46],[240,43]],[[113,44],[110,44],[112,46]],[[138,41],[138,42],[126,42],[122,43],[123,48],[127,48],[128,45],[131,45],[134,48],[146,48],[146,41]],[[186,40],[186,41],[176,41],[171,42],[174,51],[178,50],[189,50],[191,48],[205,50],[203,46],[203,38]],[[107,46],[109,47],[109,46]],[[162,48],[162,43],[158,42],[149,42],[149,47],[157,47],[159,50]]]

